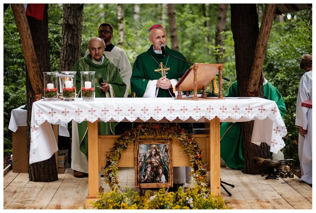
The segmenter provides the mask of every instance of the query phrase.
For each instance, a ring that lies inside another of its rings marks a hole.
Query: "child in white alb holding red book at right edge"
[[[300,62],[306,73],[301,77],[296,102],[295,125],[298,126],[298,156],[301,164],[301,181],[312,184],[312,108],[301,106],[305,100],[312,100],[312,55],[306,54]]]

